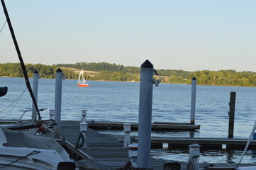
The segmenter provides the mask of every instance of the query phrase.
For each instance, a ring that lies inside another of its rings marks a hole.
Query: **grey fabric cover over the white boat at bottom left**
[[[4,135],[6,136],[6,147],[29,147],[38,149],[53,149],[57,152],[61,152],[64,149],[58,142],[52,137],[42,137],[35,135],[26,135],[23,132],[15,132],[1,127]]]

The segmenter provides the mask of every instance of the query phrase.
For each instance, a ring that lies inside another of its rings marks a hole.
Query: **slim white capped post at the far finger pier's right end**
[[[196,77],[193,77],[191,84],[191,115],[190,115],[190,124],[195,124],[196,117]]]

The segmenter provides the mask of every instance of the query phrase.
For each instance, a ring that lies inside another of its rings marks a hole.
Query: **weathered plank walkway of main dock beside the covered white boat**
[[[77,142],[79,136],[78,121],[61,122],[62,137],[72,145]],[[88,129],[87,132],[88,149],[82,149],[87,157],[77,161],[78,166],[93,169],[122,169],[128,162],[128,149],[123,148],[123,143],[118,142],[115,137],[108,134],[101,134],[95,130]],[[167,161],[151,158],[150,168],[162,170]]]

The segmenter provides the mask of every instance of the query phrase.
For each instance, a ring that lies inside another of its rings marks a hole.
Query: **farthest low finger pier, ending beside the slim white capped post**
[[[108,129],[108,130],[123,130],[123,124],[125,122],[87,122],[89,128],[92,129]],[[138,123],[130,123],[132,130],[138,130]],[[152,123],[153,131],[164,131],[164,130],[199,130],[200,125],[191,125],[190,123]]]

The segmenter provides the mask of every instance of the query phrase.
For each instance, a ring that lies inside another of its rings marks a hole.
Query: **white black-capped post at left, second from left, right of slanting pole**
[[[61,99],[62,99],[62,70],[59,68],[56,71],[55,81],[55,122],[54,137],[60,138],[60,118],[61,118]]]

